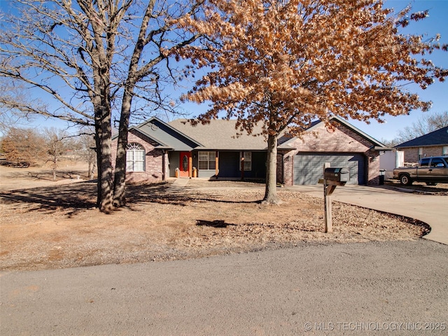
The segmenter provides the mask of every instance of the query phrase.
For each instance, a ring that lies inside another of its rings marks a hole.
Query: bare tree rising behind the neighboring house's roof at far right
[[[440,130],[440,128],[448,126],[448,111],[442,113],[430,113],[424,114],[411,126],[407,126],[404,129],[398,131],[398,137],[393,139],[393,144],[402,144],[405,141],[409,141],[422,135]]]

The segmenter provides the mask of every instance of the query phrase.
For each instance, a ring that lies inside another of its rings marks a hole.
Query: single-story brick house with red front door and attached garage
[[[165,123],[151,118],[131,127],[127,179],[265,179],[265,138],[245,132],[237,135],[235,123],[236,120],[211,120],[207,125],[192,126],[183,119]],[[322,178],[324,162],[330,162],[331,167],[349,168],[350,184],[379,183],[378,156],[384,145],[342,118],[333,117],[331,123],[331,128],[320,121],[312,123],[301,139],[288,136],[279,139],[279,183],[316,184]],[[113,146],[117,146],[116,137]]]

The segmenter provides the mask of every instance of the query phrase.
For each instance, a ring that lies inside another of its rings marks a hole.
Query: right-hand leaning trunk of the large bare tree
[[[125,90],[129,92],[129,90]],[[121,106],[120,127],[118,129],[117,158],[113,179],[113,205],[123,207],[126,204],[126,149],[129,130],[132,94],[125,94]]]

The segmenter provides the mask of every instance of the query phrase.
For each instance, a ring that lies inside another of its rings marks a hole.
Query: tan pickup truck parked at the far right
[[[410,186],[414,181],[426,182],[428,186],[448,183],[448,156],[423,158],[417,167],[395,168],[393,178],[404,186]]]

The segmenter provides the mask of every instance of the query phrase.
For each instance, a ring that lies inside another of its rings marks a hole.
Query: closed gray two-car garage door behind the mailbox
[[[360,153],[298,153],[294,157],[293,179],[295,185],[316,184],[323,178],[323,165],[346,167],[350,171],[347,184],[366,184],[365,155]]]

